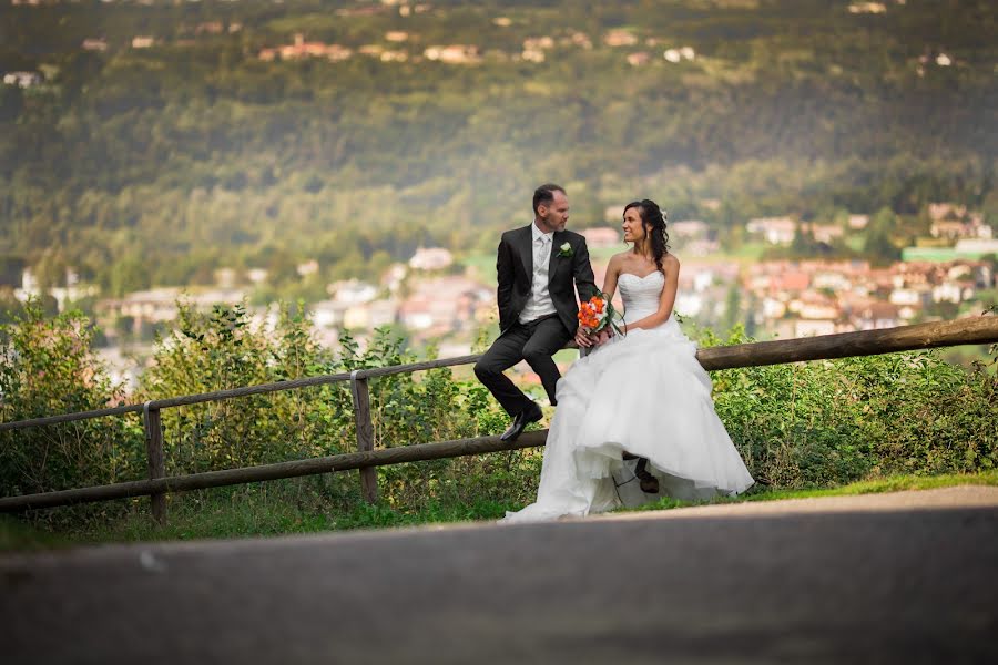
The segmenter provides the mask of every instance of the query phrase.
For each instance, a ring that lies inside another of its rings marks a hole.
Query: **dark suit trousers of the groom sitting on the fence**
[[[533,400],[523,395],[502,372],[520,360],[526,360],[541,378],[551,405],[557,405],[554,387],[561,378],[561,372],[558,371],[551,356],[562,348],[570,337],[557,314],[529,324],[516,323],[500,335],[475,364],[475,376],[499,400],[507,413],[516,416]]]

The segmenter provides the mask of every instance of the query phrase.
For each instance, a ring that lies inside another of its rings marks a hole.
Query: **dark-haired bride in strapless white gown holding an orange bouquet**
[[[753,484],[714,412],[696,347],[672,317],[680,263],[662,211],[649,200],[629,204],[623,232],[633,246],[610,259],[603,285],[608,298],[620,287],[623,335],[577,334],[593,350],[558,381],[537,502],[506,522],[584,516],[661,492],[736,494]]]

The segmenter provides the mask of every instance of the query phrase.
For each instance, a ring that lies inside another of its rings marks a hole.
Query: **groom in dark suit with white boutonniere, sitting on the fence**
[[[533,193],[533,223],[507,231],[499,242],[499,338],[475,365],[475,375],[513,419],[499,438],[511,441],[541,419],[541,408],[502,372],[520,360],[540,376],[556,405],[561,374],[553,358],[576,335],[579,306],[595,293],[585,238],[564,229],[564,188],[547,184]]]

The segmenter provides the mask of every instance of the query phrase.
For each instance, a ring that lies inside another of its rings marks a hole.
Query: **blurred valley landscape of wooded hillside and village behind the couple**
[[[129,386],[179,301],[272,327],[301,301],[329,349],[387,326],[468,352],[496,331],[499,234],[553,181],[598,275],[625,203],[668,211],[690,325],[980,314],[996,19],[970,0],[16,0],[0,311],[82,309]]]

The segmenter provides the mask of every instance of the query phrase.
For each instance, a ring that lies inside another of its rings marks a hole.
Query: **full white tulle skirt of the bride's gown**
[[[537,502],[505,521],[587,515],[660,497],[736,494],[753,484],[714,411],[695,345],[670,318],[613,338],[580,358],[558,383]],[[634,478],[646,458],[660,493]]]

